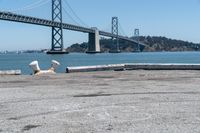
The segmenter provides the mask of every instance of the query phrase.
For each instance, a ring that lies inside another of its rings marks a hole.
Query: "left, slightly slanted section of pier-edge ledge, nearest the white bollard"
[[[72,73],[72,72],[92,72],[92,71],[108,71],[108,70],[120,71],[120,70],[124,70],[124,68],[125,68],[124,64],[67,67],[66,68],[66,73]]]

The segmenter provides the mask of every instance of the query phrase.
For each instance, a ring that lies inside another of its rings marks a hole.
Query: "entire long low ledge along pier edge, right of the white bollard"
[[[152,63],[129,63],[97,66],[67,67],[66,73],[91,72],[91,71],[122,71],[122,70],[200,70],[200,64],[152,64]]]

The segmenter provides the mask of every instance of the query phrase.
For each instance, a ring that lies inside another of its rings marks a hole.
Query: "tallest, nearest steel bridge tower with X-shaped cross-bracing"
[[[62,0],[52,0],[52,21],[59,22],[60,27],[52,27],[51,50],[47,54],[65,54],[62,27]]]

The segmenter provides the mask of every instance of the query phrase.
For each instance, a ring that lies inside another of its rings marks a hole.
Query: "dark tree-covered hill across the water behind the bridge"
[[[135,39],[134,37],[131,37]],[[166,37],[151,37],[151,36],[140,36],[140,42],[146,44],[146,47],[141,46],[141,51],[200,51],[200,44],[169,39]],[[110,50],[116,49],[116,45],[113,45],[111,39],[101,39],[101,51],[109,52]],[[137,45],[126,42],[123,40],[119,41],[120,50],[122,52],[133,52],[137,50]],[[66,50],[68,52],[85,52],[87,50],[88,43],[73,44]]]

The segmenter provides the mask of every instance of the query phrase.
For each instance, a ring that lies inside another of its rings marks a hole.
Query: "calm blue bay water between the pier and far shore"
[[[38,60],[41,69],[48,69],[51,60],[61,63],[58,72],[65,72],[67,66],[87,66],[119,63],[200,63],[200,52],[142,52],[119,54],[82,54],[67,55],[33,54],[0,54],[0,70],[21,69],[23,74],[30,74],[32,70],[28,64]]]

